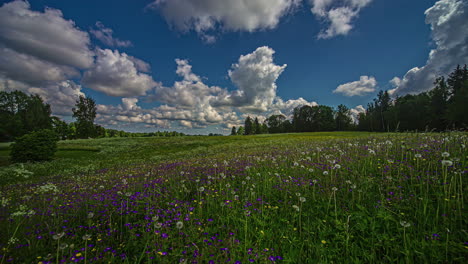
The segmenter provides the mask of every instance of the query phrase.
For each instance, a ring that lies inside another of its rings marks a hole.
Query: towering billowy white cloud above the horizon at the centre
[[[231,127],[242,125],[238,113],[255,115],[263,120],[271,114],[289,116],[297,106],[317,105],[303,98],[283,101],[276,95],[276,80],[286,65],[276,65],[274,53],[269,47],[259,47],[252,53],[241,55],[228,71],[236,86],[233,91],[205,84],[205,78],[193,72],[189,61],[177,59],[176,73],[182,80],[170,87],[157,86],[150,98],[166,105],[148,111],[158,119],[178,121],[185,128],[213,124]]]

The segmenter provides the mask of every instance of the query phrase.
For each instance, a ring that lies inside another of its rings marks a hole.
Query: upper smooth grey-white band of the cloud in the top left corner
[[[60,10],[36,12],[24,1],[0,7],[0,43],[55,64],[87,68],[93,63],[88,33],[64,19]]]

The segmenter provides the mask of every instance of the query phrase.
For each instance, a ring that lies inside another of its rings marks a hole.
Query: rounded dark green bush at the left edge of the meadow
[[[16,139],[11,145],[12,162],[51,160],[57,151],[58,136],[50,129],[38,130]]]

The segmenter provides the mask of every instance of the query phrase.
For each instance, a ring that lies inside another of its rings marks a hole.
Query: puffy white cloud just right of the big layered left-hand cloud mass
[[[82,83],[110,96],[140,96],[157,84],[138,71],[134,58],[117,50],[97,49],[96,63],[83,75]]]

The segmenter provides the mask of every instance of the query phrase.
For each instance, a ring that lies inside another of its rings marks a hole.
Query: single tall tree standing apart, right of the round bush
[[[96,102],[89,97],[80,96],[73,108],[73,117],[76,118],[76,134],[78,138],[96,136],[94,119],[96,118]]]

